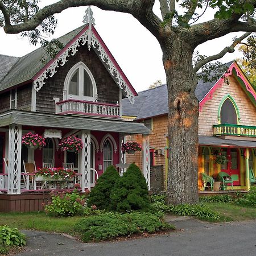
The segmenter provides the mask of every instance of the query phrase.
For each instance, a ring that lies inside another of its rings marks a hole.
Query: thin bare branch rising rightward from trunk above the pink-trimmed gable
[[[201,67],[203,67],[203,65],[207,64],[208,62],[213,61],[213,60],[218,60],[218,59],[222,58],[228,52],[229,53],[234,52],[234,48],[237,46],[237,44],[241,43],[241,41],[243,39],[247,38],[247,36],[249,36],[250,34],[251,34],[251,32],[246,32],[245,34],[240,36],[240,38],[237,38],[236,40],[234,40],[234,42],[230,46],[227,46],[224,49],[222,49],[221,52],[217,53],[216,55],[209,56],[209,57],[199,61],[198,63],[196,63],[195,67],[193,68],[193,71],[196,73],[197,71],[199,71],[199,69]]]

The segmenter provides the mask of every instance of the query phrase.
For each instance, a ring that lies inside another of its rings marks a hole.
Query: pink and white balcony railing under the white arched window
[[[119,104],[107,104],[92,101],[65,100],[56,102],[56,114],[100,115],[120,117]]]

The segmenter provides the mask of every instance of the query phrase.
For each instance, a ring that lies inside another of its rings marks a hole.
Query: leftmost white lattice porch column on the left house
[[[7,193],[20,194],[22,126],[9,126]]]

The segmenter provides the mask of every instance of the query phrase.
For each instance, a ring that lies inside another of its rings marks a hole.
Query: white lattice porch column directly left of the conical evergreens
[[[90,190],[90,131],[82,130],[81,139],[84,143],[80,158],[81,189],[85,192],[85,188]]]

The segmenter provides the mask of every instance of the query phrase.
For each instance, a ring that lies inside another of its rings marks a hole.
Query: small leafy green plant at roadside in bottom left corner
[[[26,237],[18,229],[0,226],[0,246],[24,246]]]

